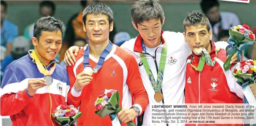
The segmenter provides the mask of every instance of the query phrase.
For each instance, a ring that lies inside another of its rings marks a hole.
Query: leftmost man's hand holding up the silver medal
[[[34,94],[36,94],[36,90],[38,88],[42,88],[46,86],[46,81],[44,78],[32,78],[29,79],[29,83],[28,83],[28,94],[30,96],[33,96]]]

